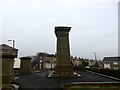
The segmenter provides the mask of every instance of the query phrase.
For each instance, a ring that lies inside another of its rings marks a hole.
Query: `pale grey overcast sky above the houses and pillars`
[[[0,0],[0,44],[16,41],[19,57],[56,52],[55,26],[70,26],[71,55],[118,55],[119,0]]]

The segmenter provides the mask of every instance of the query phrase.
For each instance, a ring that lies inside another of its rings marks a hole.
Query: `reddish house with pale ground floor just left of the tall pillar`
[[[55,55],[38,52],[35,56],[32,56],[31,66],[35,69],[52,69],[56,66]]]

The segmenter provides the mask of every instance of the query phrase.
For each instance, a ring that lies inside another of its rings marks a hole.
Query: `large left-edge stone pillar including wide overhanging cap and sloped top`
[[[10,84],[14,81],[13,66],[17,54],[18,49],[6,44],[0,45],[0,77],[2,77],[2,84]]]

